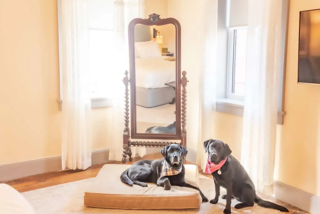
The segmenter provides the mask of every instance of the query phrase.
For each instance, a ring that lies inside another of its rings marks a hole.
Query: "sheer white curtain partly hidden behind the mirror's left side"
[[[143,0],[115,0],[114,1],[114,48],[116,52],[113,64],[115,78],[115,97],[113,102],[112,136],[110,142],[109,160],[121,160],[123,153],[124,130],[124,71],[129,71],[128,25],[134,18],[143,18]],[[129,85],[130,89],[130,85]],[[130,92],[129,92],[130,93]],[[130,96],[130,95],[129,95]],[[132,147],[132,157],[138,154],[142,157],[146,148]]]

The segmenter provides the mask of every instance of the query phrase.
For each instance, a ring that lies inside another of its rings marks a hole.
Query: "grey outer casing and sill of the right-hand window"
[[[229,28],[228,20],[229,13],[228,8],[230,7],[230,1],[219,0],[218,1],[218,34],[217,40],[219,60],[217,70],[217,95],[216,95],[216,108],[217,112],[226,114],[232,114],[239,117],[243,116],[244,112],[244,101],[227,99],[227,77],[228,77],[228,44],[229,44]],[[277,124],[284,124],[284,115],[286,111],[284,109],[284,91],[285,91],[285,80],[286,80],[286,56],[287,56],[287,45],[288,45],[288,28],[289,28],[289,11],[290,1],[282,0],[282,17],[281,17],[281,66],[279,68],[279,93],[278,93],[278,115]],[[219,46],[220,45],[220,46]]]

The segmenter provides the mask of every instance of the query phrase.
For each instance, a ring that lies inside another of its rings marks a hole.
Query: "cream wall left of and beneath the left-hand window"
[[[61,155],[57,0],[1,0],[0,29],[0,165]],[[92,113],[106,148],[112,109]]]

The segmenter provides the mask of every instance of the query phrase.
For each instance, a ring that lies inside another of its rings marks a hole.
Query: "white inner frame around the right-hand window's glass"
[[[234,82],[234,68],[235,68],[235,50],[236,50],[236,30],[247,29],[247,26],[229,27],[228,32],[228,58],[227,58],[227,84],[226,84],[226,98],[236,101],[244,101],[245,95],[238,95],[232,93]]]

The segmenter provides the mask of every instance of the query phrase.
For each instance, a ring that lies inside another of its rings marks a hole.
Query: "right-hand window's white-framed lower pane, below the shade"
[[[247,28],[229,30],[227,98],[244,100]]]

